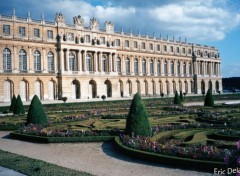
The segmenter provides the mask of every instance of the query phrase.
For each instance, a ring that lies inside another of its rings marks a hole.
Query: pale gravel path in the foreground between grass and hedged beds
[[[0,149],[98,176],[209,176],[169,168],[118,153],[111,143],[36,144],[12,140],[0,132]]]

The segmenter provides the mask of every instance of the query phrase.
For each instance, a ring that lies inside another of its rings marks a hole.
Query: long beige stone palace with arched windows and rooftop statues
[[[0,15],[0,102],[160,96],[222,91],[218,49],[99,28],[81,16],[66,23]]]

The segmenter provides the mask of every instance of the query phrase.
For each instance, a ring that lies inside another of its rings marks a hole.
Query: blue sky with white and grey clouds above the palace
[[[112,21],[115,31],[160,34],[214,46],[222,59],[223,77],[240,77],[240,0],[1,0],[0,14],[54,21],[61,12],[68,24],[81,15],[85,26],[96,18],[100,27]]]

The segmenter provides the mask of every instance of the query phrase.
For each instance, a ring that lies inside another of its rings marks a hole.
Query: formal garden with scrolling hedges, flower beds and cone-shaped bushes
[[[0,107],[0,130],[39,143],[112,140],[119,152],[183,168],[213,171],[240,164],[240,94]],[[185,106],[204,102],[204,106]]]

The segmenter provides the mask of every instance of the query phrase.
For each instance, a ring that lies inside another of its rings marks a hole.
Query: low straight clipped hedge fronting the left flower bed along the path
[[[86,137],[43,137],[21,134],[17,132],[10,133],[14,139],[37,142],[37,143],[74,143],[74,142],[105,142],[110,141],[114,136],[86,136]]]

